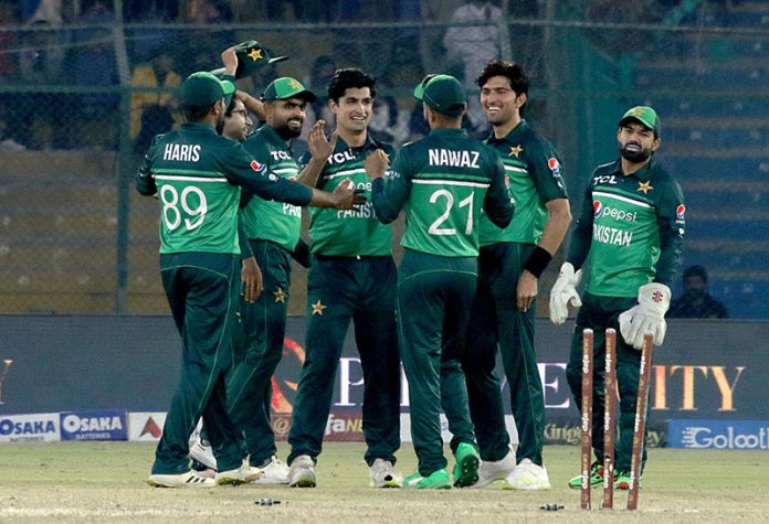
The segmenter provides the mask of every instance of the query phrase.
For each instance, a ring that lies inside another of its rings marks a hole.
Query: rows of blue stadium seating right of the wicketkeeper
[[[766,2],[735,2],[717,14],[718,25],[769,26]],[[670,40],[660,43],[665,53],[639,62],[633,85],[660,113],[660,158],[686,194],[684,265],[707,268],[710,291],[731,317],[767,318],[769,45],[749,34]]]

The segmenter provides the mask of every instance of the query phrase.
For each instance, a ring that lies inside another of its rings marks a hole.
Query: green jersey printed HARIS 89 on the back
[[[161,254],[240,253],[240,186],[296,205],[313,197],[310,188],[267,175],[239,142],[200,122],[155,137],[136,178],[139,193],[160,200]]]

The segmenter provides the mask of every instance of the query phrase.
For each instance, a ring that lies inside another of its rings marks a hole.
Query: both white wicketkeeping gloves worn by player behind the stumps
[[[577,286],[582,278],[582,270],[575,271],[570,263],[563,263],[558,280],[550,291],[550,321],[562,324],[569,316],[568,306],[582,306]],[[671,306],[671,290],[664,284],[650,282],[639,288],[639,303],[620,314],[620,333],[624,341],[641,350],[643,336],[654,335],[654,344],[662,345],[667,331],[665,312]]]

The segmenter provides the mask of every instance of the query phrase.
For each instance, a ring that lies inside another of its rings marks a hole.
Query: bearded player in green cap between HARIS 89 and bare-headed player
[[[309,132],[313,160],[299,172],[291,140],[298,137],[305,107],[317,98],[295,78],[272,82],[262,100],[266,122],[243,148],[265,165],[267,175],[303,181],[317,178],[334,145],[326,140],[323,120]],[[245,359],[228,379],[228,405],[235,425],[245,435],[249,460],[264,477],[255,483],[287,484],[288,467],[276,457],[270,425],[272,376],[283,355],[291,287],[292,255],[299,242],[302,208],[243,192],[241,213],[251,250],[264,279],[264,293],[254,303],[243,301],[241,320],[245,333]]]

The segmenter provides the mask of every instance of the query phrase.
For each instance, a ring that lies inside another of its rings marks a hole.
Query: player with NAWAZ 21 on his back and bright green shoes
[[[440,411],[453,434],[455,486],[477,481],[478,453],[467,408],[462,362],[477,284],[481,212],[498,227],[513,218],[505,171],[497,153],[461,128],[464,88],[449,75],[417,86],[430,135],[403,146],[384,182],[387,157],[367,160],[371,201],[383,223],[405,210],[405,248],[398,278],[401,353],[409,381],[411,436],[419,470],[404,483],[451,488],[443,456]]]

